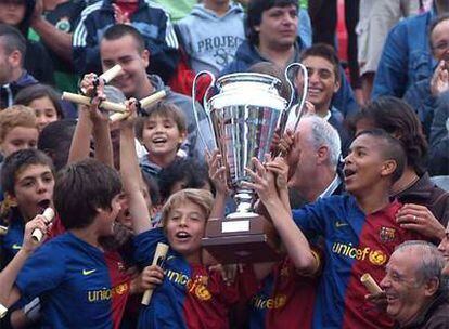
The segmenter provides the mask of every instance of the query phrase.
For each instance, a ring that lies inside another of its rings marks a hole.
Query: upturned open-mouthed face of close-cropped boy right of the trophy
[[[352,195],[371,189],[383,176],[389,174],[379,143],[377,139],[363,134],[350,145],[344,173],[346,190]]]

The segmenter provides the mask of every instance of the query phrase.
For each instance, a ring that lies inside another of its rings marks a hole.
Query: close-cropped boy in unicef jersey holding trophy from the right
[[[345,184],[350,195],[323,198],[294,210],[294,221],[281,207],[280,194],[285,192],[279,190],[272,174],[279,174],[285,164],[278,158],[266,164],[267,170],[255,162],[257,173],[249,171],[255,183],[248,186],[257,189],[297,268],[316,263],[303,232],[324,239],[324,268],[312,328],[392,327],[392,319],[365,300],[368,291],[360,277],[370,273],[380,281],[395,247],[421,238],[396,223],[401,206],[389,200],[389,188],[406,162],[400,142],[380,130],[358,135],[345,159]]]

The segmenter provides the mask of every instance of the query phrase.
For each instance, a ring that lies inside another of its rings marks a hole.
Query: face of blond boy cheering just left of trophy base
[[[176,206],[165,225],[170,247],[188,260],[198,256],[205,226],[206,216],[200,206],[188,200]]]

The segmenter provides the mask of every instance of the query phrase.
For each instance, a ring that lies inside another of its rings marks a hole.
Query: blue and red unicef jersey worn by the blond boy
[[[134,238],[136,260],[150,265],[157,242],[168,244],[162,228]],[[239,282],[227,286],[218,272],[189,264],[169,249],[164,281],[155,288],[150,305],[143,306],[138,328],[229,328],[228,310],[239,300]]]

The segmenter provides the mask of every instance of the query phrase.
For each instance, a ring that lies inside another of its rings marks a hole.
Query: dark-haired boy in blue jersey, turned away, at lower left
[[[95,160],[61,170],[54,206],[67,229],[28,258],[17,275],[1,282],[0,303],[41,300],[42,327],[112,328],[112,289],[99,238],[114,234],[120,209],[118,173]],[[76,196],[76,197],[75,197]]]

